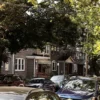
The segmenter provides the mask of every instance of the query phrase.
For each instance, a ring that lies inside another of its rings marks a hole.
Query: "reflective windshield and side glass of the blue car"
[[[95,82],[93,80],[74,79],[65,84],[64,89],[94,91]]]

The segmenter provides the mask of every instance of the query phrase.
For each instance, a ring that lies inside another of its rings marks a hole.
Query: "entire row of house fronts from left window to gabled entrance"
[[[59,52],[59,48],[46,45],[43,51],[26,49],[17,54],[9,54],[8,62],[2,66],[2,73],[18,74],[23,78],[50,77],[76,72],[84,75],[84,62],[79,62],[80,58],[76,59],[76,54],[59,59],[62,56]]]

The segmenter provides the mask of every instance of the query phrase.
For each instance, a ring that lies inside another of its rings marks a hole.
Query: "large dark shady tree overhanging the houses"
[[[68,4],[48,1],[31,6],[21,0],[5,1],[0,5],[0,26],[3,30],[0,55],[6,48],[16,53],[26,48],[42,49],[46,43],[75,45],[79,36],[78,25],[69,17],[73,10]]]

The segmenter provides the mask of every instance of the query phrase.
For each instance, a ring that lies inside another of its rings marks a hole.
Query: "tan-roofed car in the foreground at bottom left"
[[[0,100],[60,100],[52,91],[29,87],[0,87]]]

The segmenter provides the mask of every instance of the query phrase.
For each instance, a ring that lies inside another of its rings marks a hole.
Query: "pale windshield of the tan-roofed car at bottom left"
[[[25,95],[0,93],[0,100],[25,100]]]

